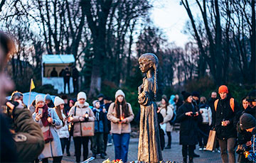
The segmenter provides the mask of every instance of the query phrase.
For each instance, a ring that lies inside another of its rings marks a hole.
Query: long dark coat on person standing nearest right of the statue
[[[198,116],[186,116],[185,113],[196,112],[192,103],[183,103],[178,108],[176,120],[181,123],[180,127],[180,145],[196,145],[198,143]]]

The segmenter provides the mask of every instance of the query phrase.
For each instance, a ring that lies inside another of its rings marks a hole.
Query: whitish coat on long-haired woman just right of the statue
[[[162,107],[160,110],[161,115],[164,117],[163,123],[166,123],[166,132],[171,132],[173,129],[173,126],[169,123],[171,118],[174,116],[174,106],[167,106],[167,112],[166,108]]]

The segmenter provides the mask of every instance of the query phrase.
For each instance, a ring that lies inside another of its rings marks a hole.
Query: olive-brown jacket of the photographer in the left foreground
[[[32,162],[43,151],[44,139],[41,128],[34,122],[31,112],[18,105],[13,111],[15,133],[13,135],[18,162]]]

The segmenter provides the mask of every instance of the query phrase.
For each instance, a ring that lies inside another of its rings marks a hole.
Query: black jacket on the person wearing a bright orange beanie
[[[239,111],[240,107],[236,101],[234,111],[230,107],[230,97],[218,101],[216,111],[213,112],[213,121],[218,139],[226,140],[230,137],[237,137],[234,118]],[[221,125],[223,120],[230,120],[230,124],[227,126]]]

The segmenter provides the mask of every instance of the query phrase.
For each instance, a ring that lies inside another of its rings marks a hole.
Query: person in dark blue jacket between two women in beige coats
[[[102,108],[100,108],[100,101],[93,101],[92,111],[95,115],[95,135],[92,137],[92,157],[96,158],[97,149],[100,152],[100,157],[105,159],[105,150],[104,150],[104,113]]]

